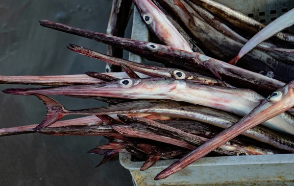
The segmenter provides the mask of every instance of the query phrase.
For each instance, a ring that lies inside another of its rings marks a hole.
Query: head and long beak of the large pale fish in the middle
[[[172,78],[121,79],[98,85],[77,85],[56,88],[6,89],[9,94],[31,95],[71,95],[102,96],[130,99],[165,99],[164,93],[174,89],[176,82]],[[160,95],[162,94],[162,96]]]

